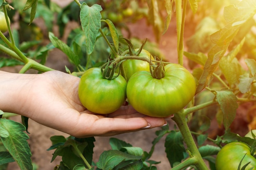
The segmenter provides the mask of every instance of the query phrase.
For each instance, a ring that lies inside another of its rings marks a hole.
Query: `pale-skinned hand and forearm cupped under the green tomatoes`
[[[79,101],[79,80],[60,71],[0,71],[0,110],[29,117],[74,137],[112,136],[166,125],[164,118],[142,115],[132,106],[121,106],[108,115],[90,112]]]

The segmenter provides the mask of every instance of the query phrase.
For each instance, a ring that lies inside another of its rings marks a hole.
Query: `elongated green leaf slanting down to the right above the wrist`
[[[80,64],[80,57],[76,55],[67,44],[59,40],[57,37],[54,36],[53,33],[49,32],[49,39],[51,40],[52,44],[57,48],[63,51],[67,55],[67,57],[71,60],[71,62],[78,66]]]

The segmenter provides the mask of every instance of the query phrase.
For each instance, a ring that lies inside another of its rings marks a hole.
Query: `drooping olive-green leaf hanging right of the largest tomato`
[[[237,98],[231,89],[223,89],[222,91],[216,91],[216,93],[217,101],[223,112],[223,125],[227,130],[236,117]]]

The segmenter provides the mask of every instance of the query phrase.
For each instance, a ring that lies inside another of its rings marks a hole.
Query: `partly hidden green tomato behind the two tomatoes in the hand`
[[[138,49],[135,49],[137,51]],[[148,57],[151,60],[154,60],[154,57],[146,50],[142,49],[139,53],[140,57]],[[130,77],[138,71],[150,71],[149,63],[142,60],[125,60],[123,62],[124,72],[126,74],[126,79],[129,80]]]

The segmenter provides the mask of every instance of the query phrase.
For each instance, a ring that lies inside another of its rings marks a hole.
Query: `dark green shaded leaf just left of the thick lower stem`
[[[165,139],[165,152],[167,158],[173,167],[175,162],[181,162],[184,159],[183,152],[186,152],[183,144],[183,137],[181,132],[172,130]]]

